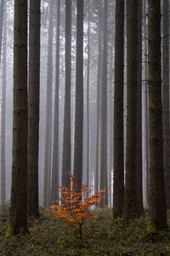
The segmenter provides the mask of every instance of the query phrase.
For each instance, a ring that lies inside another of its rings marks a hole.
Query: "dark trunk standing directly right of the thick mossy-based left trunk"
[[[41,1],[30,1],[29,97],[28,97],[28,181],[27,213],[39,217],[38,142],[40,95],[40,8]]]

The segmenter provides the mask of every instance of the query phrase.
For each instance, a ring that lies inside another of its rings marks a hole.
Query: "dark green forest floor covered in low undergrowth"
[[[94,212],[98,218],[84,223],[81,244],[75,228],[42,210],[40,219],[29,220],[30,234],[6,238],[8,209],[4,209],[0,212],[0,255],[170,255],[170,230],[150,230],[148,211],[128,222],[113,221],[111,209]]]

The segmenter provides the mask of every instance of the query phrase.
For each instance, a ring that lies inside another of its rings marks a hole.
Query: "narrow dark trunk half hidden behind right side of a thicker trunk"
[[[143,172],[142,172],[142,0],[138,11],[138,88],[137,88],[137,208],[138,215],[143,207]]]

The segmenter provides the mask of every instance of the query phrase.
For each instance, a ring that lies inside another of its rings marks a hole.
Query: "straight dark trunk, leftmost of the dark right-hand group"
[[[116,0],[115,97],[114,97],[114,198],[115,217],[122,217],[124,197],[123,86],[124,0]]]

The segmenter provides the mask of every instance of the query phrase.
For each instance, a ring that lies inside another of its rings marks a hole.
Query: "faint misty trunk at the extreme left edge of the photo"
[[[6,68],[7,68],[7,10],[4,2],[3,15],[3,86],[2,86],[2,107],[1,107],[1,205],[6,201],[5,190],[5,127],[6,127]]]

